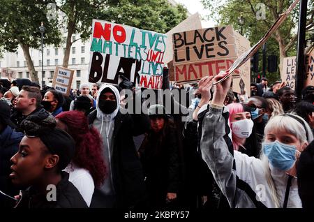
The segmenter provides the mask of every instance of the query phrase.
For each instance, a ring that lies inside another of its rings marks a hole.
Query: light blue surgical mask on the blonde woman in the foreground
[[[294,145],[286,145],[276,140],[275,142],[263,142],[262,149],[274,168],[290,170],[296,161],[297,147]]]

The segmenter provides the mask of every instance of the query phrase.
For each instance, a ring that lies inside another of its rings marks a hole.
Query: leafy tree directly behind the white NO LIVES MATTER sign
[[[54,2],[64,17],[61,23],[67,29],[63,67],[68,67],[70,47],[75,41],[87,40],[91,35],[93,19],[128,24],[140,29],[166,32],[186,19],[186,8],[172,6],[165,0],[60,0]],[[80,38],[72,39],[73,34]]]

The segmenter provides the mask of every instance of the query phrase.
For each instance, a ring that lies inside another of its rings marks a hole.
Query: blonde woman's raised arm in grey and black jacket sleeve
[[[223,76],[223,74],[218,74],[214,77],[213,81],[216,82]],[[200,88],[202,84],[209,85],[209,78],[203,81],[200,81]],[[234,199],[237,190],[237,175],[236,171],[233,169],[234,158],[232,156],[232,144],[231,147],[227,145],[227,131],[229,131],[227,127],[228,114],[223,112],[223,102],[230,88],[230,82],[231,78],[229,77],[227,80],[216,84],[213,100],[202,121],[200,149],[202,151],[202,158],[213,173],[220,190],[227,198],[230,206],[234,207],[236,205]],[[207,94],[207,90],[209,89],[210,87],[204,87],[202,97],[203,94]]]

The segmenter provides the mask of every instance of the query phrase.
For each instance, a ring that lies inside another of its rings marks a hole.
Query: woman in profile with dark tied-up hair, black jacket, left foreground
[[[25,135],[10,158],[10,179],[22,188],[15,208],[87,208],[82,195],[62,170],[75,152],[75,141],[56,128],[51,114],[29,115],[21,123]]]

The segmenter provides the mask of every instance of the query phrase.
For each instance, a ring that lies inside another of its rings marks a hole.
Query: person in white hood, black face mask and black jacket
[[[104,84],[98,91],[96,110],[89,114],[89,124],[103,139],[107,179],[100,187],[106,207],[135,207],[145,202],[142,165],[133,136],[149,131],[145,114],[121,114],[116,87]]]

